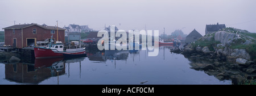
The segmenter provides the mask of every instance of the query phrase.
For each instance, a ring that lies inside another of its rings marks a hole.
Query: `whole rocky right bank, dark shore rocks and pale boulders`
[[[221,32],[221,34],[228,36],[227,34],[230,33]],[[200,41],[210,40],[213,37],[216,38],[216,34],[201,37]],[[219,38],[222,39],[221,37]],[[213,40],[218,41],[218,39]],[[171,52],[184,55],[184,57],[191,61],[190,65],[192,69],[203,70],[218,80],[232,80],[232,84],[236,85],[248,84],[251,81],[255,84],[256,60],[245,49],[230,48],[232,44],[230,40],[227,39],[227,41],[221,41],[219,44],[213,44],[213,51],[210,51],[209,47],[201,47],[200,45],[195,47],[192,44],[188,44],[181,49],[171,49]],[[232,40],[236,39],[232,38]]]

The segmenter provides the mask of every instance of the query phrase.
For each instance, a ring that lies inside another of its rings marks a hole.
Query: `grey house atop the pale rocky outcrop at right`
[[[221,30],[222,28],[226,28],[225,24],[207,24],[205,27],[205,35],[211,34],[212,32],[216,32]]]

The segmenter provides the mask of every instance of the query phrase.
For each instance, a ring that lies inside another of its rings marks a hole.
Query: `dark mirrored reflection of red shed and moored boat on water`
[[[17,64],[5,64],[5,78],[21,84],[39,84],[51,77],[59,77],[65,74],[65,65],[69,62],[81,62],[85,57],[78,59],[65,59],[63,57],[35,59],[35,63],[19,62]]]

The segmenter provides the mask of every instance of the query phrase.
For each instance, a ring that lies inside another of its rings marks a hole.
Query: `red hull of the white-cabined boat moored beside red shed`
[[[55,53],[52,49],[34,47],[35,58],[63,57],[63,53]]]

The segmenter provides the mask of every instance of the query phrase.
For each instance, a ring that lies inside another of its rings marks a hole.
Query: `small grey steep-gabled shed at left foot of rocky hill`
[[[191,43],[193,41],[196,41],[197,39],[199,39],[200,37],[202,37],[201,34],[199,34],[199,32],[196,31],[196,29],[194,29],[187,37],[186,37],[186,43]]]

